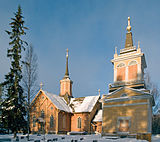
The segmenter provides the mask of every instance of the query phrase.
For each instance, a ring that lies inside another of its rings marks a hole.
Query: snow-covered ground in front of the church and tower
[[[19,142],[28,142],[26,135],[18,134]],[[40,140],[40,141],[39,141]],[[16,142],[13,135],[0,135],[0,142]],[[147,142],[134,138],[101,137],[100,135],[30,135],[30,142]],[[160,135],[152,136],[152,142],[160,142]]]

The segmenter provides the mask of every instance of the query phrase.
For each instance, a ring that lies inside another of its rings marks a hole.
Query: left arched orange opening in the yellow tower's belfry
[[[125,80],[125,72],[126,67],[124,63],[120,63],[117,65],[117,81]]]

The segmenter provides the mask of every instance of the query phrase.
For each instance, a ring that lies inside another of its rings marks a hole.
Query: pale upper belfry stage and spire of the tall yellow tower
[[[120,50],[119,55],[117,48],[115,49],[111,62],[114,65],[114,83],[109,86],[110,92],[123,86],[136,89],[145,87],[144,69],[147,65],[140,43],[138,42],[138,48],[133,45],[130,17],[128,17],[125,47]]]

